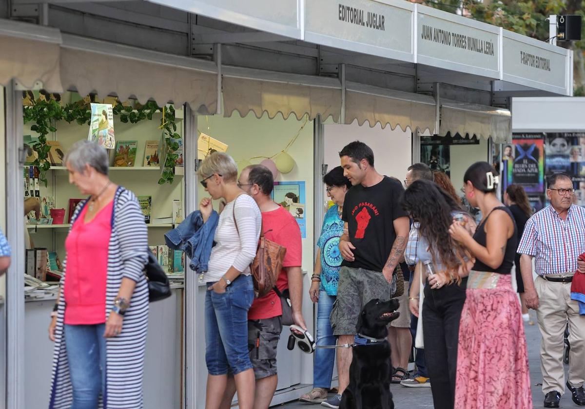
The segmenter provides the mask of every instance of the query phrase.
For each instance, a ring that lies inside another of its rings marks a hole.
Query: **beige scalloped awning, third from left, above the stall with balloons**
[[[341,86],[337,79],[266,71],[261,77],[254,77],[254,71],[223,68],[225,116],[238,111],[243,117],[252,111],[257,118],[266,112],[270,118],[278,113],[287,118],[292,113],[297,119],[321,115],[323,119],[332,116],[339,120]]]

